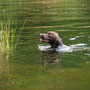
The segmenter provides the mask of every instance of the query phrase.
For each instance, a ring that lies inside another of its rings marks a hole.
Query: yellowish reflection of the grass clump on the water
[[[10,85],[10,65],[9,54],[3,55],[0,52],[0,87],[7,87]]]

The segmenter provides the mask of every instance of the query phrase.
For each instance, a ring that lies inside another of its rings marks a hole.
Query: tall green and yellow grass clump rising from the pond
[[[0,51],[11,52],[14,49],[16,28],[11,25],[11,20],[8,20],[6,23],[1,21],[0,26]]]

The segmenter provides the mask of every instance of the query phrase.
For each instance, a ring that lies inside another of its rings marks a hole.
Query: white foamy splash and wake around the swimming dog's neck
[[[73,51],[82,51],[82,50],[90,50],[90,48],[86,47],[87,44],[74,44],[70,46],[58,46],[57,48],[51,48],[51,46],[45,46],[43,44],[39,44],[38,48],[41,51],[55,50],[56,52],[73,52]]]

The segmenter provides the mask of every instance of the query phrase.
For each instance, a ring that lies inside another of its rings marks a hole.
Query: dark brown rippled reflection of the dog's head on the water
[[[59,54],[56,51],[42,51],[41,63],[43,66],[52,66],[59,62]]]

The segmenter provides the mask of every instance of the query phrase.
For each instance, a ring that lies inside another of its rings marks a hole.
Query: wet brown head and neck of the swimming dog
[[[52,48],[63,46],[63,42],[56,32],[48,32],[47,34],[40,34],[40,41],[50,43]]]

